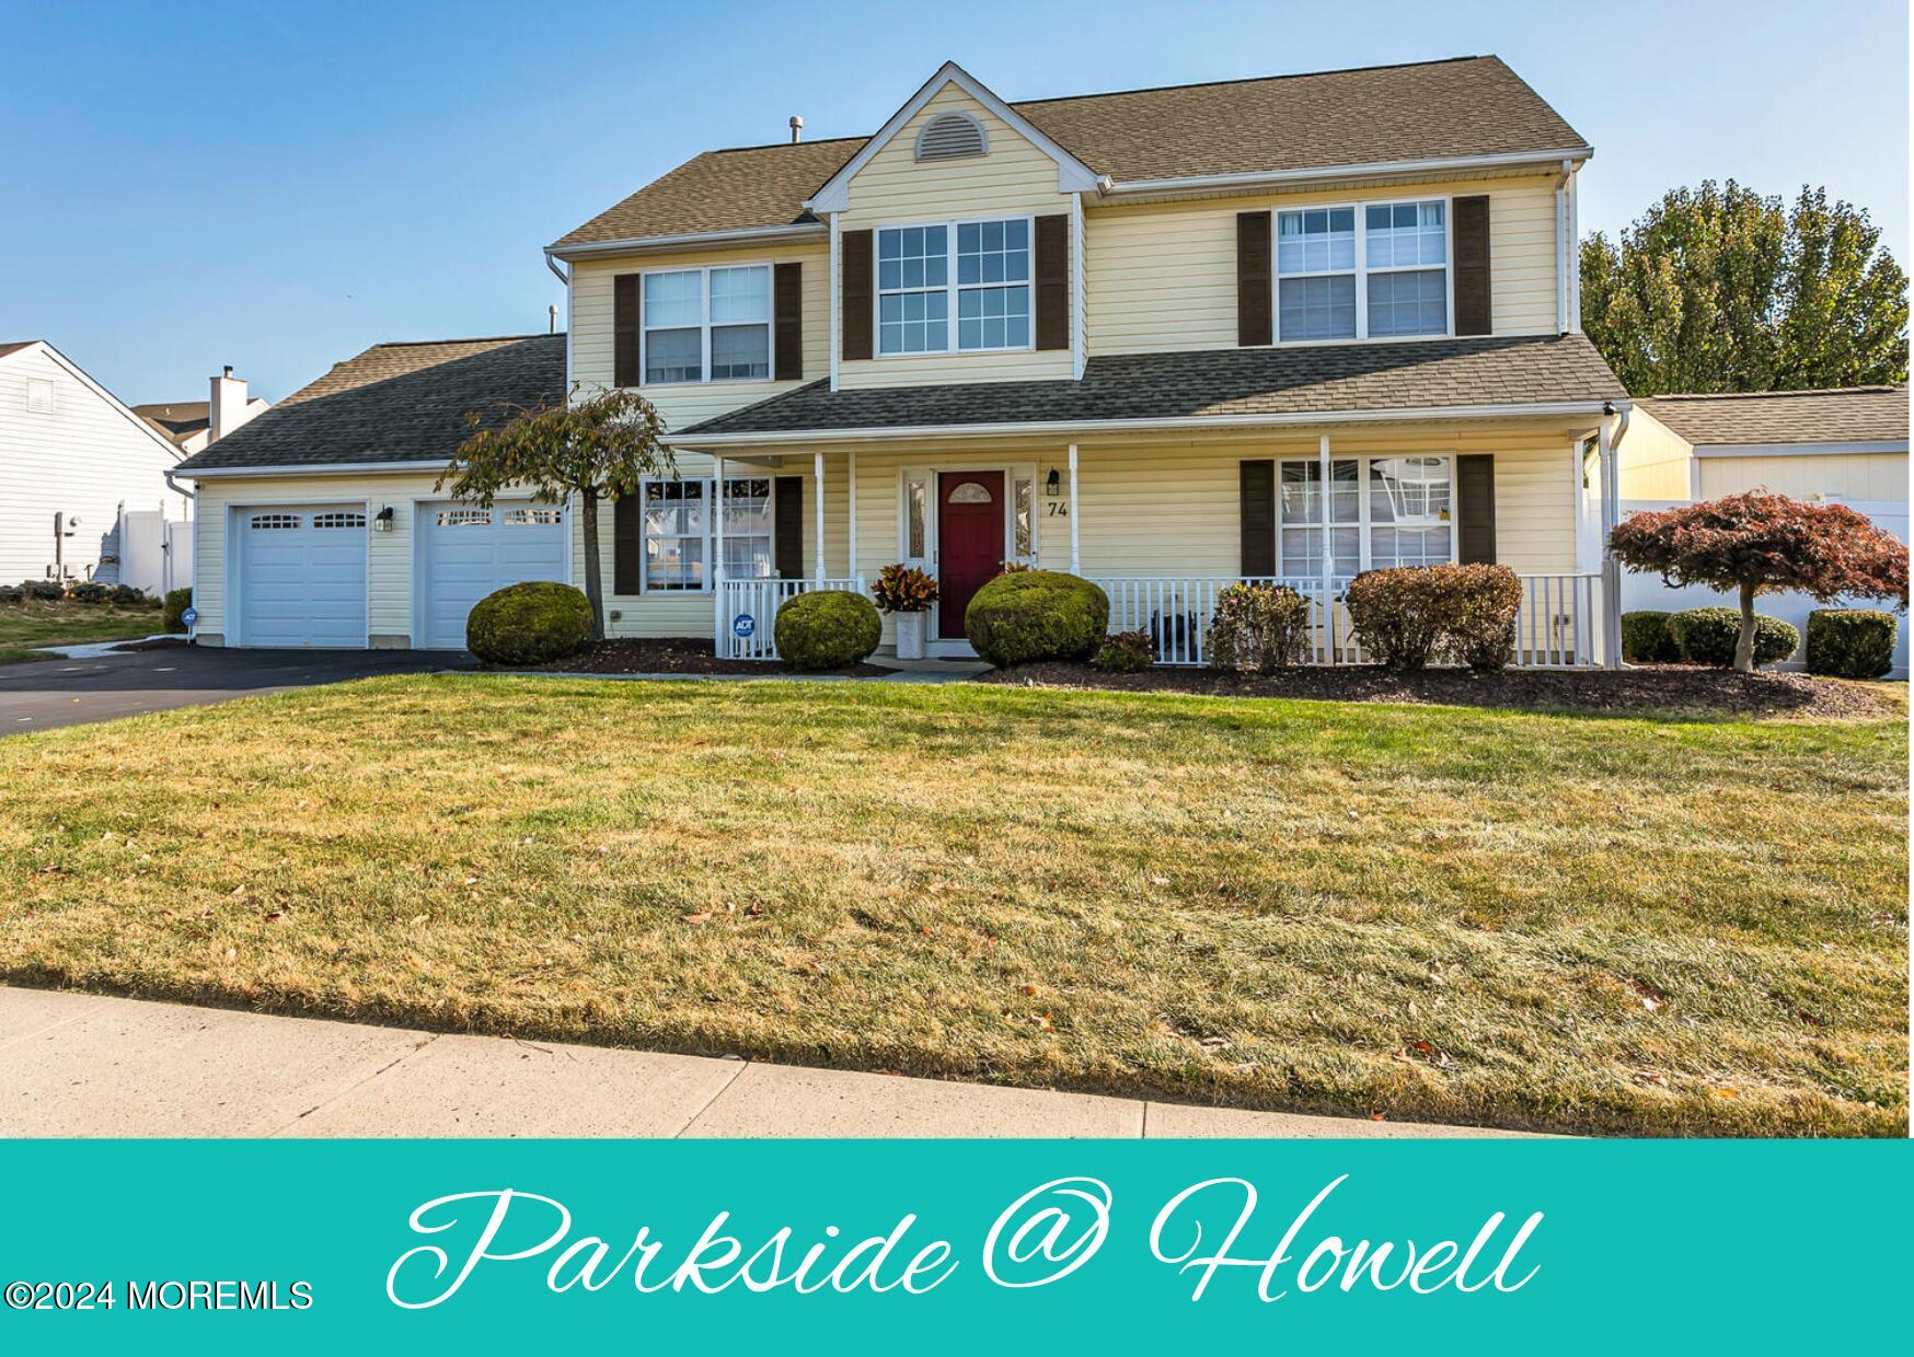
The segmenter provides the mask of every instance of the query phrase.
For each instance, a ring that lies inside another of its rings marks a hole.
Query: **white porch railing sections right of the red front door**
[[[1321,578],[1240,580],[1236,576],[1099,576],[1110,595],[1112,632],[1148,632],[1158,664],[1206,664],[1204,651],[1215,595],[1229,584],[1286,584],[1309,601],[1309,641],[1303,664],[1367,664],[1342,605],[1342,582]],[[1596,574],[1525,574],[1516,616],[1520,668],[1575,668],[1598,662]]]

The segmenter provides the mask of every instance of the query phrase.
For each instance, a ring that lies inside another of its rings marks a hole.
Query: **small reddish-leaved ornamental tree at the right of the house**
[[[1734,668],[1755,668],[1755,595],[1799,590],[1822,603],[1849,593],[1908,601],[1908,549],[1841,503],[1803,503],[1747,494],[1636,513],[1608,534],[1608,549],[1631,570],[1665,584],[1700,584],[1736,593],[1742,634]]]

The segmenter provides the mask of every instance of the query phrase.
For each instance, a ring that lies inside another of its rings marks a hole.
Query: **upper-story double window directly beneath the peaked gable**
[[[1030,218],[877,232],[879,354],[1003,348],[1030,348]]]

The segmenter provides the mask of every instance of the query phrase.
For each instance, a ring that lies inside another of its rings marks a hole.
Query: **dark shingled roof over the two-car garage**
[[[436,463],[471,436],[467,410],[498,425],[505,421],[501,406],[563,398],[565,335],[373,345],[188,457],[178,471]]]

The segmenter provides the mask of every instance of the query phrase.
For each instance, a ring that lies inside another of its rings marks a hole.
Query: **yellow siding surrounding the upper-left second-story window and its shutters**
[[[572,379],[588,390],[612,385],[612,279],[618,274],[712,264],[804,264],[804,381],[704,381],[639,387],[666,429],[752,406],[831,375],[831,251],[815,245],[745,245],[572,264]]]

